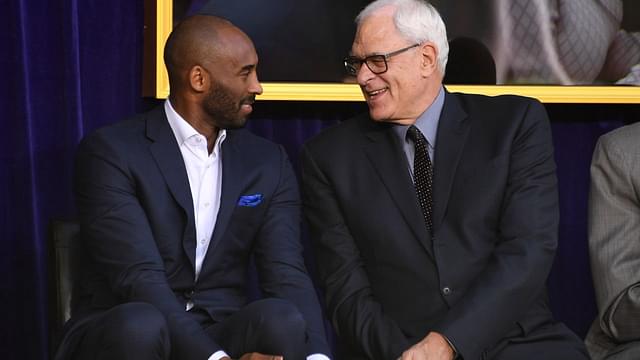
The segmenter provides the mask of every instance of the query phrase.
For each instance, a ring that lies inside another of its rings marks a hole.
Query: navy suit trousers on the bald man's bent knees
[[[306,323],[286,300],[263,299],[248,304],[220,322],[202,310],[189,312],[232,358],[244,353],[305,357]],[[193,354],[171,353],[166,320],[153,305],[118,305],[82,326],[82,340],[73,359],[191,359]]]

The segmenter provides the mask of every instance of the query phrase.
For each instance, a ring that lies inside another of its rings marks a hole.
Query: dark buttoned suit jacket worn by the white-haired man
[[[392,126],[363,115],[303,148],[303,208],[349,356],[395,359],[435,330],[478,359],[551,321],[558,197],[541,104],[446,94],[433,237]]]

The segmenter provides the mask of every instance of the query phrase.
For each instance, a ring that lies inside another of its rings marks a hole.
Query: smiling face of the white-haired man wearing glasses
[[[393,23],[393,7],[385,7],[362,20],[351,55],[365,58],[386,54],[413,43]],[[436,71],[436,49],[427,42],[387,60],[388,70],[374,74],[363,65],[356,75],[375,121],[413,124],[433,102],[441,76]]]

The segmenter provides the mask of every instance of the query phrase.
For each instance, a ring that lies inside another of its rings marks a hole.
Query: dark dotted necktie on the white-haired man
[[[413,141],[416,151],[413,158],[413,185],[418,194],[420,208],[429,234],[433,234],[433,221],[431,214],[433,209],[433,167],[427,150],[427,139],[417,127],[411,125],[407,136]]]

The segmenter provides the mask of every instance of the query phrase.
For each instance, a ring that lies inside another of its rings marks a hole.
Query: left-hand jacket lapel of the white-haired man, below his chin
[[[391,194],[407,224],[427,252],[433,256],[431,236],[427,232],[413,182],[407,168],[406,156],[399,140],[388,124],[365,122],[364,151],[376,173]],[[367,124],[369,123],[369,124]]]

